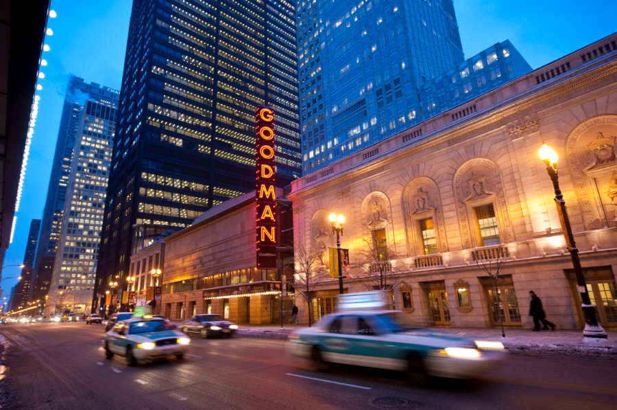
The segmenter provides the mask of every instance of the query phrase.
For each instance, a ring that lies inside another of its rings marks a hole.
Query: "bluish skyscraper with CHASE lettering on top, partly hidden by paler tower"
[[[69,188],[69,172],[73,162],[75,140],[81,136],[80,117],[86,101],[94,101],[117,107],[120,92],[99,84],[87,84],[84,79],[71,75],[66,85],[62,116],[56,151],[53,154],[47,200],[43,209],[43,223],[40,229],[40,238],[36,250],[34,271],[38,277],[41,266],[50,266],[56,257],[60,230],[62,229],[62,215],[66,190]],[[43,259],[45,259],[45,263]],[[43,268],[49,270],[49,268]],[[47,292],[45,292],[47,293]]]

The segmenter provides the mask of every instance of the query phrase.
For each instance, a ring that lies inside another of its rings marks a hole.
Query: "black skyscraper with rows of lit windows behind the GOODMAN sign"
[[[128,272],[134,224],[188,226],[255,189],[257,105],[277,183],[300,175],[297,64],[287,0],[134,0],[97,286]]]

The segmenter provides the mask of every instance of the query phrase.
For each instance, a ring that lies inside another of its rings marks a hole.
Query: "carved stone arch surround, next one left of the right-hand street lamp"
[[[485,179],[483,179],[485,178]],[[479,185],[477,185],[479,184]],[[461,230],[461,240],[463,249],[472,247],[472,237],[470,230],[472,227],[471,216],[468,215],[465,202],[481,199],[484,196],[495,196],[495,209],[500,221],[500,227],[504,236],[502,237],[507,242],[515,242],[514,229],[510,219],[510,214],[505,198],[505,189],[499,166],[487,158],[472,158],[464,162],[457,172],[455,172],[452,180],[452,190],[455,193],[455,204],[457,207],[457,216],[459,218],[459,227]],[[492,192],[494,190],[495,192]],[[474,196],[475,195],[475,196]]]

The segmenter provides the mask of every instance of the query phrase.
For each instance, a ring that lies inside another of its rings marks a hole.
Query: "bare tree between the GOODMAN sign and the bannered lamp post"
[[[311,302],[315,299],[315,288],[326,279],[326,270],[321,268],[319,253],[312,251],[304,242],[295,246],[293,251],[296,271],[293,287],[306,300],[309,306],[309,327],[313,321]]]

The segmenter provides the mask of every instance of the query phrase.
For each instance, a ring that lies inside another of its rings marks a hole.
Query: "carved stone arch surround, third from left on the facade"
[[[435,216],[433,222],[436,227],[439,252],[449,252],[444,211],[441,209],[441,198],[435,181],[428,177],[412,179],[405,185],[401,199],[407,234],[407,255],[424,255],[420,244],[416,244],[418,241],[413,223],[415,218],[423,218],[425,215],[427,218]]]

